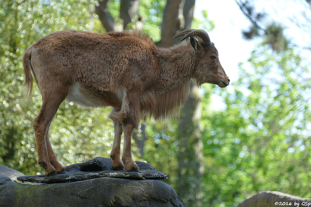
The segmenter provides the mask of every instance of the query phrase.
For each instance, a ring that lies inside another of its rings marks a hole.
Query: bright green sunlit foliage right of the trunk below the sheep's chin
[[[260,46],[234,92],[222,92],[226,109],[202,110],[206,202],[237,205],[265,190],[311,196],[308,73],[292,50]]]

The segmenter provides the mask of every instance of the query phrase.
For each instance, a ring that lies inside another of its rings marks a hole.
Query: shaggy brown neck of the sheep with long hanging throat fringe
[[[193,51],[189,47],[159,48],[156,53],[159,78],[141,102],[143,112],[154,119],[179,116],[180,106],[188,98],[194,68]]]

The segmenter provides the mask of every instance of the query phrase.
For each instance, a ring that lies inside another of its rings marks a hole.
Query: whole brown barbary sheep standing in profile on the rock
[[[43,99],[33,127],[38,163],[45,175],[65,173],[49,141],[50,124],[64,99],[84,106],[112,106],[109,115],[114,121],[112,168],[139,171],[132,160],[131,136],[142,116],[161,119],[178,113],[180,104],[188,97],[192,78],[198,85],[212,83],[221,88],[229,85],[207,32],[187,29],[173,38],[183,35],[182,40],[190,41],[158,48],[140,31],[105,34],[58,31],[26,50],[25,85],[31,95],[32,71]]]

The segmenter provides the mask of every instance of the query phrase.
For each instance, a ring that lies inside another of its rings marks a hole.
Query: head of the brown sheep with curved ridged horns
[[[181,40],[186,38],[190,39],[190,44],[193,47],[193,58],[196,64],[193,71],[193,78],[197,83],[212,83],[221,88],[229,85],[230,79],[225,73],[224,68],[221,66],[218,51],[211,42],[206,31],[202,29],[187,29],[176,34],[172,39],[184,36]],[[194,38],[198,37],[199,41]]]

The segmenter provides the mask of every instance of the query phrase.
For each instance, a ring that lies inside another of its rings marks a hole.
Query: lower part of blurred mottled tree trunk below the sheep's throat
[[[185,206],[202,206],[202,174],[204,171],[203,141],[199,123],[201,119],[201,95],[191,82],[191,96],[180,112],[178,126],[179,172],[176,192]]]

